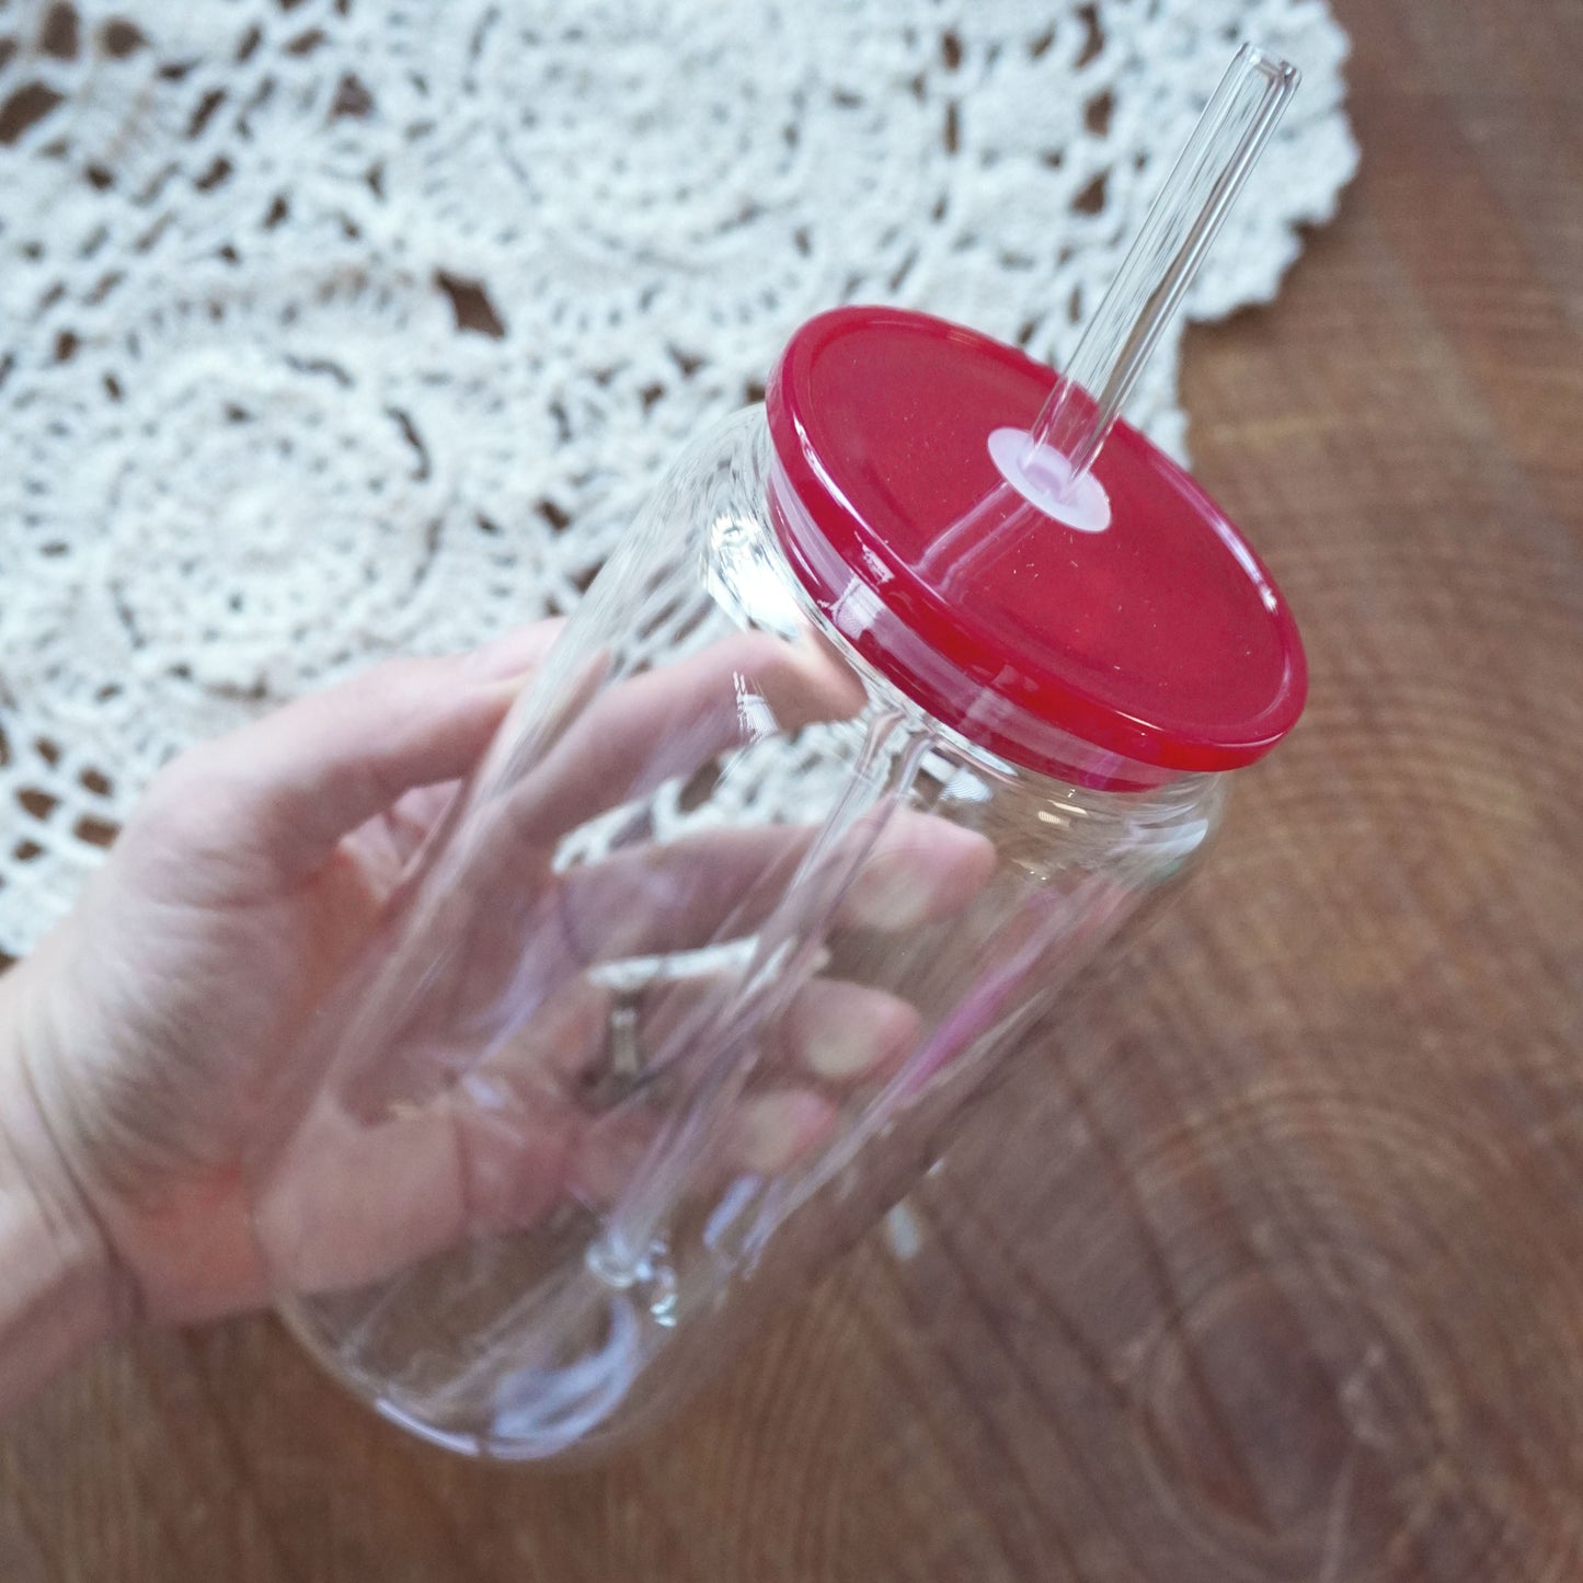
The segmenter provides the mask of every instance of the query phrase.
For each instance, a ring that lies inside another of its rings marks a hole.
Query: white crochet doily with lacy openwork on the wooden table
[[[1200,318],[1352,171],[1320,0],[0,9],[0,951],[185,744],[575,605],[807,315],[1059,361],[1241,40],[1304,85]]]

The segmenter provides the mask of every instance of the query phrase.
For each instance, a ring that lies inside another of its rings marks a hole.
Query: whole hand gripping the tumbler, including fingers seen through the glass
[[[277,1075],[328,1057],[315,1015],[355,961],[378,958],[388,901],[446,788],[551,636],[530,628],[470,660],[382,666],[177,760],[73,917],[0,980],[6,1114],[33,1138],[40,1192],[101,1246],[120,1315],[198,1319],[266,1296],[249,1160]],[[861,701],[839,665],[809,670],[746,635],[611,689],[603,712],[565,733],[514,792],[503,845],[475,855],[462,886],[473,937],[377,1053],[374,1089],[340,1095],[361,1114],[332,1107],[309,1129],[331,1146],[288,1151],[277,1186],[301,1227],[293,1281],[370,1279],[568,1192],[619,1187],[641,1126],[579,1100],[611,1012],[584,969],[750,928],[807,833],[627,850],[570,879],[549,860],[567,828],[730,746],[744,673],[779,728]],[[920,823],[893,823],[875,847],[847,902],[855,921],[939,915],[983,883],[986,844]],[[649,1048],[690,996],[678,986],[644,1010]],[[457,1051],[446,1069],[440,1046],[464,1026],[483,1027],[488,1053]],[[773,1168],[809,1148],[831,1121],[826,1084],[898,1059],[915,1016],[875,989],[814,983],[780,1029],[788,1076],[739,1114],[739,1164]],[[451,1080],[413,1103],[393,1083],[404,1059]],[[382,1108],[382,1092],[399,1102]]]

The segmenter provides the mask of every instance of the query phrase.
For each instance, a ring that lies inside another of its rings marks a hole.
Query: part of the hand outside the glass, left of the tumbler
[[[367,939],[554,638],[399,660],[174,760],[76,910],[0,978],[14,1175],[109,1309],[263,1296],[242,1156],[269,1070]]]

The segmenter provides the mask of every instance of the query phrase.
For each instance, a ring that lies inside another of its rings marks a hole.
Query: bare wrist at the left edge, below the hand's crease
[[[104,1238],[28,1070],[19,970],[0,980],[0,1412],[117,1328]]]

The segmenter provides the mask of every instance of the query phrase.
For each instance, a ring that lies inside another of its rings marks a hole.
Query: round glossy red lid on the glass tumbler
[[[1285,602],[1203,489],[1124,423],[1094,469],[1102,532],[1013,489],[989,435],[1027,431],[1054,383],[921,313],[810,320],[766,397],[788,559],[871,663],[1015,763],[1113,787],[1251,763],[1308,689]]]

